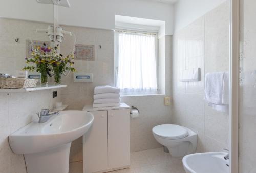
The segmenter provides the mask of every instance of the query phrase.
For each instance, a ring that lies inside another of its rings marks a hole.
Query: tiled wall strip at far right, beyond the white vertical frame
[[[256,172],[256,1],[240,1],[239,172]]]

